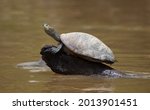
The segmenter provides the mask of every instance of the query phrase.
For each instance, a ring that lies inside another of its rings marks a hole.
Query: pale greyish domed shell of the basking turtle
[[[83,32],[61,34],[62,43],[73,53],[95,62],[113,63],[115,57],[111,49],[93,35]]]

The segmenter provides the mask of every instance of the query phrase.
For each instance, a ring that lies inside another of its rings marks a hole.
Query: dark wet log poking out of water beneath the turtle
[[[126,74],[103,63],[84,60],[77,56],[68,55],[63,50],[53,53],[55,46],[46,45],[40,54],[52,71],[65,75],[102,75],[109,77],[125,77]]]

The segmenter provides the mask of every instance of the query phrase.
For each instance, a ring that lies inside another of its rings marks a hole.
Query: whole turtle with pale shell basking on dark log
[[[59,42],[58,46],[53,46],[53,54],[58,53],[61,49],[67,54],[75,55],[82,59],[113,64],[115,56],[112,50],[97,37],[84,32],[69,32],[59,34],[53,27],[44,24],[44,31],[53,39]]]

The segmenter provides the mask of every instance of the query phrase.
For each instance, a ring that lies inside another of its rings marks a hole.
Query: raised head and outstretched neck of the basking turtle
[[[50,25],[48,25],[46,23],[43,25],[43,27],[44,27],[44,31],[48,35],[50,35],[51,37],[53,37],[56,41],[60,42],[60,34],[58,32],[56,32],[53,27],[51,27]]]

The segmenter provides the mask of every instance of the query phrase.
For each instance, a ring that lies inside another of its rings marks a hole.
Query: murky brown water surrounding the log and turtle
[[[44,44],[56,44],[43,31],[82,31],[114,51],[112,67],[150,74],[149,0],[1,0],[0,92],[150,92],[149,78],[112,79],[31,72],[18,63],[36,61]]]

